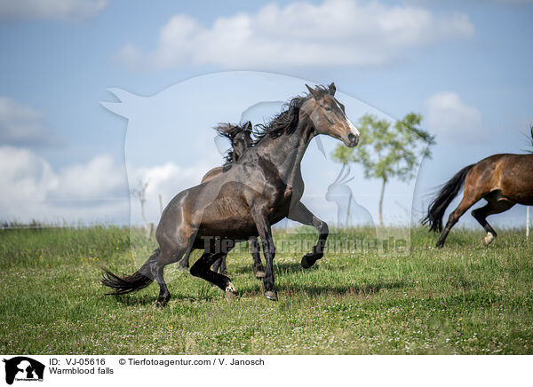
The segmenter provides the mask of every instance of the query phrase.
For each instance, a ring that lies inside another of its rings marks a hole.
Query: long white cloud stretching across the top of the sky
[[[185,14],[161,28],[155,51],[127,43],[116,57],[133,67],[381,65],[412,48],[473,35],[464,13],[436,16],[410,5],[325,0],[219,17],[211,26]]]

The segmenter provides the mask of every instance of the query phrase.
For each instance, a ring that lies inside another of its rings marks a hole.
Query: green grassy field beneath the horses
[[[0,352],[531,354],[533,240],[502,231],[481,248],[483,236],[456,229],[435,250],[436,235],[413,229],[407,257],[358,251],[308,270],[301,254],[280,253],[277,303],[263,297],[248,254],[228,257],[233,300],[171,265],[173,298],[157,308],[155,285],[121,297],[99,285],[102,265],[133,272],[145,261],[155,243],[140,233],[0,231]]]

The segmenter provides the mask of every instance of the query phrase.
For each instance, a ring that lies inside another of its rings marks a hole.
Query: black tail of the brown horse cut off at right
[[[459,194],[459,190],[465,184],[466,175],[473,166],[474,164],[459,170],[453,178],[450,178],[442,186],[439,194],[429,204],[427,215],[422,219],[422,225],[429,225],[431,231],[442,231],[442,217],[444,217],[444,212],[448,208],[449,203]]]

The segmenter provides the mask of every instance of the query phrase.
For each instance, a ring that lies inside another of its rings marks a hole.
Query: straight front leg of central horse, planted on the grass
[[[265,286],[265,296],[277,301],[277,291],[274,286],[274,256],[275,246],[274,239],[272,238],[272,229],[267,216],[262,209],[252,208],[251,215],[258,228],[259,236],[261,237],[261,243],[263,244],[263,254],[265,255],[265,277],[263,278],[263,284]]]

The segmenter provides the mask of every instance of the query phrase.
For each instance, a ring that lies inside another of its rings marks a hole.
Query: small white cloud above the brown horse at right
[[[457,93],[441,91],[427,99],[427,122],[438,139],[483,140],[481,113],[475,107],[466,105]]]

